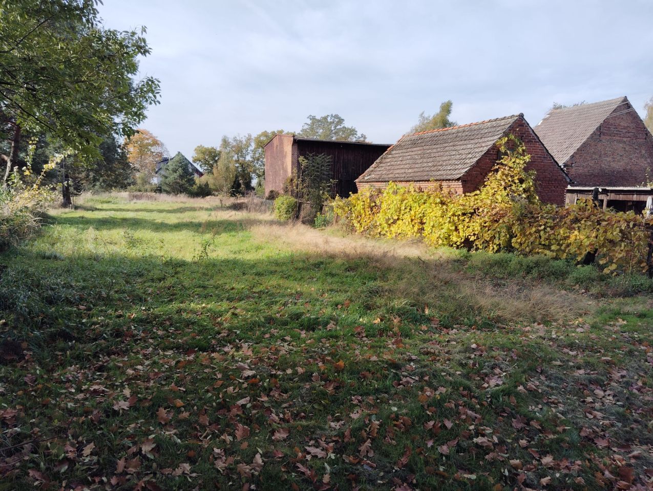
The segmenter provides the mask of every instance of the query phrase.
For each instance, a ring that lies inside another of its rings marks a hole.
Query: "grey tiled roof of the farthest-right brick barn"
[[[550,154],[563,165],[606,117],[618,106],[627,103],[628,98],[617,97],[592,104],[553,109],[533,129]]]

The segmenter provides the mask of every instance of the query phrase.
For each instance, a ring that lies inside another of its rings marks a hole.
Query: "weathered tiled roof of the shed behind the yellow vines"
[[[523,115],[404,135],[357,181],[459,179],[520,117]]]

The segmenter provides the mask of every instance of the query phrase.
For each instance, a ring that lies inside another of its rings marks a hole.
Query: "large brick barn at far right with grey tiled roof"
[[[627,97],[551,110],[533,128],[578,186],[642,186],[653,136]]]

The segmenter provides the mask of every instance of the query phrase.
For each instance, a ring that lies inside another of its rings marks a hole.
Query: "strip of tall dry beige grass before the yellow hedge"
[[[364,258],[370,267],[394,276],[383,292],[441,312],[467,311],[492,320],[569,321],[592,310],[586,296],[541,280],[478,278],[462,271],[454,252],[428,248],[421,241],[387,241],[357,235],[334,235],[302,224],[255,224],[261,240],[297,251],[340,260]],[[331,230],[333,232],[333,230]]]

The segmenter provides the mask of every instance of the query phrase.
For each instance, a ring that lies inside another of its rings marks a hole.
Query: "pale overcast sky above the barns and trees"
[[[142,124],[171,153],[223,134],[298,131],[338,113],[394,143],[440,102],[459,124],[553,102],[653,96],[653,1],[104,0],[106,27],[145,25]]]

